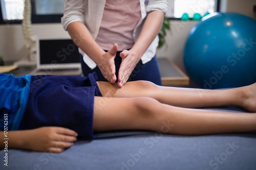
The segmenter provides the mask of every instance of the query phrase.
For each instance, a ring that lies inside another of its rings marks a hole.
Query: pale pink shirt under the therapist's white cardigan
[[[132,48],[133,32],[141,18],[139,0],[106,0],[96,42],[103,50],[117,43],[118,51]]]

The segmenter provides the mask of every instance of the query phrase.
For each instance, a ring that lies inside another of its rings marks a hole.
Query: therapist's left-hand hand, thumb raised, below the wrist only
[[[117,51],[118,45],[114,44],[113,47],[101,57],[100,62],[97,64],[104,78],[112,84],[116,81],[116,66],[114,59]]]

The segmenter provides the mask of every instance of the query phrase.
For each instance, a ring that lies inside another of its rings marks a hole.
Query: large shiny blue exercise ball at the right
[[[191,29],[184,65],[201,88],[256,82],[256,21],[238,13],[213,13]]]

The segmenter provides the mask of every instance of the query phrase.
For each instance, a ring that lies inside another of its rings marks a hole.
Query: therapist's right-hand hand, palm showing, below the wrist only
[[[121,88],[127,82],[135,66],[139,62],[140,57],[136,54],[137,53],[134,52],[132,49],[129,51],[124,50],[120,53],[122,62],[118,72],[118,87]]]

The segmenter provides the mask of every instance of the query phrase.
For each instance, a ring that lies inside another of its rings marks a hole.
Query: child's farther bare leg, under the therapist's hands
[[[151,82],[127,82],[122,88],[108,82],[97,82],[103,96],[131,98],[148,96],[168,105],[200,108],[237,105],[256,112],[256,83],[228,90],[162,87]]]

